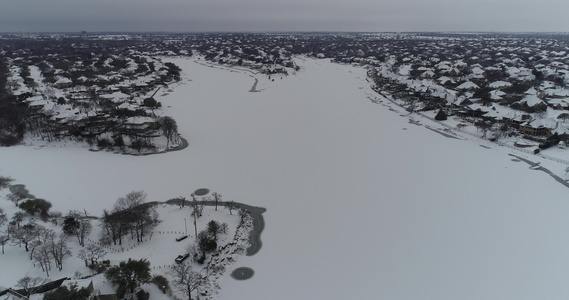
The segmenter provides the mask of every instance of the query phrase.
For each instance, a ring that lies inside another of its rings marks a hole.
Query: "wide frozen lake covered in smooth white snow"
[[[565,166],[410,124],[387,101],[371,103],[361,68],[299,58],[294,75],[256,75],[253,93],[250,72],[175,62],[189,80],[157,100],[189,148],[142,157],[1,148],[0,175],[63,212],[100,215],[132,190],[164,201],[201,187],[267,208],[263,248],[234,265],[254,277],[227,272],[220,299],[569,293],[569,189],[508,154],[559,175]],[[1,260],[0,281],[17,280]]]

